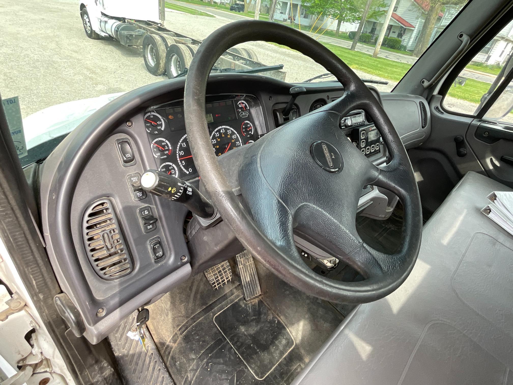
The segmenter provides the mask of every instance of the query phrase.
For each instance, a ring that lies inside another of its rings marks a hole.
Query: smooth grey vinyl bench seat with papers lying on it
[[[513,237],[480,212],[494,190],[511,191],[469,172],[406,282],[349,315],[293,384],[513,384]]]

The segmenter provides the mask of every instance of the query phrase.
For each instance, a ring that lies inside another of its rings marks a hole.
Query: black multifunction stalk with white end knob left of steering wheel
[[[141,177],[141,187],[154,195],[183,203],[198,217],[210,219],[215,216],[214,206],[198,189],[165,172],[156,170],[144,172]]]

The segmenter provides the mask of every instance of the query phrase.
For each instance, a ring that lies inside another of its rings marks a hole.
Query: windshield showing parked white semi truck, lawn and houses
[[[55,0],[51,6],[4,2],[2,98],[4,106],[11,103],[6,100],[16,100],[12,103],[18,105],[25,147],[30,149],[69,132],[123,92],[186,76],[196,49],[212,31],[253,18],[310,35],[369,84],[390,91],[466,2]],[[299,52],[266,42],[231,48],[213,71],[262,72],[291,83],[334,80]],[[486,71],[467,75],[483,82],[487,78],[482,72]],[[469,95],[462,88],[453,97],[466,100]]]

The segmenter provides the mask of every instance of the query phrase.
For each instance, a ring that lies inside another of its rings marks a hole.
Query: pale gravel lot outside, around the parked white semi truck
[[[169,10],[166,19],[169,29],[199,40],[233,21],[230,14],[203,17]],[[28,0],[0,2],[0,32],[0,92],[3,98],[20,97],[23,117],[55,104],[129,91],[167,79],[146,70],[139,49],[113,40],[90,40],[75,0],[53,0],[51,6]],[[264,42],[243,46],[254,49],[266,65],[283,64],[289,82],[326,72],[296,51]],[[362,78],[383,80],[356,72]],[[377,88],[390,91],[395,85],[389,82]],[[453,98],[448,101],[455,110],[472,109],[471,103]]]

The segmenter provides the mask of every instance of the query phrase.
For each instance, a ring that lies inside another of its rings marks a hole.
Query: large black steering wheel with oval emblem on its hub
[[[234,194],[212,144],[205,118],[210,70],[236,44],[267,41],[298,50],[331,72],[344,87],[341,98],[272,130],[241,151]],[[370,114],[391,161],[374,166],[342,133],[348,112]],[[328,301],[364,303],[380,299],[407,278],[419,254],[422,213],[419,190],[406,150],[380,103],[358,76],[320,43],[277,23],[240,21],[214,31],[196,51],[185,83],[184,113],[201,181],[224,221],[251,254],[306,294]],[[404,206],[402,244],[384,254],[357,233],[356,215],[366,185],[386,188]],[[302,260],[294,234],[354,267],[359,282],[326,279]]]

